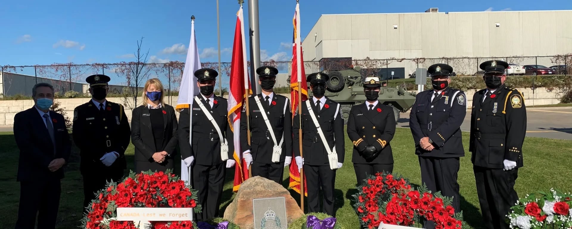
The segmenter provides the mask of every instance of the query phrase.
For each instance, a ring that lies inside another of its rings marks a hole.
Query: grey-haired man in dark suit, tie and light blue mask
[[[63,116],[50,111],[54,87],[39,83],[32,88],[34,106],[14,116],[14,138],[20,150],[17,181],[20,206],[16,229],[55,228],[63,165],[72,145]]]

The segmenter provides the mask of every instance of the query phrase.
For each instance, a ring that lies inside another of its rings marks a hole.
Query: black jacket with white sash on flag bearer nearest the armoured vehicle
[[[312,107],[312,112],[316,115],[316,119],[320,123],[320,129],[324,133],[324,137],[328,142],[328,146],[333,151],[336,148],[337,162],[344,163],[345,148],[344,148],[344,119],[341,117],[341,105],[337,102],[329,100],[326,97],[323,108],[320,112],[316,112],[316,104],[313,98],[309,98]],[[337,106],[340,106],[337,109]],[[316,125],[312,121],[312,117],[308,113],[306,101],[300,104],[301,108],[301,128],[302,139],[300,139],[298,130],[300,129],[300,113],[295,110],[294,120],[292,121],[293,133],[293,147],[294,155],[300,156],[300,140],[302,141],[302,150],[304,164],[308,165],[329,165],[328,152],[324,148],[319,133],[317,132]],[[337,115],[336,115],[337,110]],[[334,119],[334,116],[335,119]]]

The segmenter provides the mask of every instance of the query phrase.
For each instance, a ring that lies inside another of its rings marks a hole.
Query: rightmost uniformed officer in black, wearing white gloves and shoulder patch
[[[505,61],[486,61],[486,89],[472,98],[469,151],[475,172],[483,223],[489,229],[509,228],[505,222],[517,202],[514,183],[522,163],[526,108],[522,93],[505,85]]]

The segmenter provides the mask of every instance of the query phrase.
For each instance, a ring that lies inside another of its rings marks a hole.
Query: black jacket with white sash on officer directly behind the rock
[[[246,103],[243,105],[243,111],[240,117],[240,136],[241,149],[246,151],[251,149],[252,159],[260,162],[271,164],[274,141],[270,135],[269,129],[264,121],[262,112],[265,112],[268,121],[274,131],[276,143],[280,143],[284,133],[284,142],[282,147],[282,154],[280,155],[280,162],[284,161],[285,156],[292,156],[292,111],[290,109],[290,100],[285,96],[280,96],[274,93],[271,104],[268,105],[261,94],[257,94],[260,104],[263,106],[262,110],[256,104],[254,96],[248,98],[248,106],[250,116],[247,117]],[[247,120],[250,122],[251,142],[248,144],[248,127]]]

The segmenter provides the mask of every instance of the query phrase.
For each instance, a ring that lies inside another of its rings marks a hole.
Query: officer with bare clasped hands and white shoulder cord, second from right
[[[450,88],[451,66],[434,64],[427,72],[433,88],[417,94],[409,121],[421,181],[431,192],[452,197],[451,206],[460,212],[457,173],[464,156],[460,126],[467,114],[467,98],[462,90]],[[433,227],[432,222],[426,224]]]

